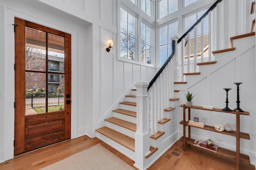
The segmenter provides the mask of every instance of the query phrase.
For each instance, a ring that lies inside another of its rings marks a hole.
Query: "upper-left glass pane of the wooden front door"
[[[26,27],[26,70],[45,71],[46,32]]]

